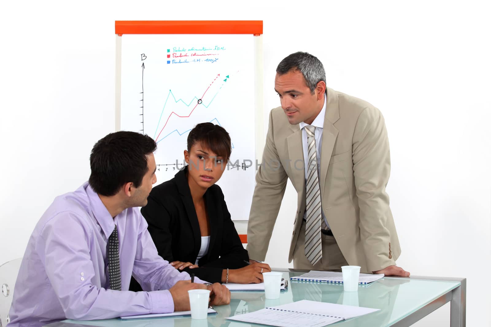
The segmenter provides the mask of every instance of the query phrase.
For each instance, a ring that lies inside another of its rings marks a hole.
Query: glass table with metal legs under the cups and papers
[[[303,274],[303,270],[274,269],[283,272],[285,279]],[[342,327],[403,327],[410,326],[443,304],[450,302],[450,326],[465,326],[465,278],[452,277],[383,277],[381,280],[358,286],[358,292],[344,292],[342,284],[288,281],[288,289],[277,300],[268,300],[264,292],[232,292],[229,305],[215,307],[217,314],[206,320],[191,317],[149,318],[123,321],[120,319],[62,322],[48,327],[240,327],[265,326],[234,322],[225,318],[300,300],[331,302],[377,308],[380,311],[341,321],[329,326]]]

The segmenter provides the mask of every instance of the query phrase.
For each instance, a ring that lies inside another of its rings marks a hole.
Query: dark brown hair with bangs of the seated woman
[[[188,135],[188,152],[197,142],[201,142],[204,148],[210,149],[226,160],[230,159],[232,153],[232,143],[230,135],[225,128],[212,123],[201,123],[194,126]]]

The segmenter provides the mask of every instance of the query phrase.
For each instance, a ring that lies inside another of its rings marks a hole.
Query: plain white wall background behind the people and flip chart
[[[114,131],[115,20],[263,20],[265,121],[279,105],[276,65],[297,50],[323,61],[329,87],[380,108],[398,264],[467,277],[467,326],[489,326],[488,2],[241,3],[1,4],[0,262],[23,255],[44,210],[88,178],[93,144]],[[290,185],[267,256],[275,267],[288,266],[295,198]],[[448,326],[448,316],[447,304],[417,326]]]

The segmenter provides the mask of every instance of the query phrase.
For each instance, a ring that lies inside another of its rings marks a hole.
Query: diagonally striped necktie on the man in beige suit
[[[312,265],[322,258],[321,244],[321,190],[317,174],[317,153],[315,146],[315,126],[305,126],[307,133],[307,183],[306,189],[306,225],[305,225],[305,256]]]

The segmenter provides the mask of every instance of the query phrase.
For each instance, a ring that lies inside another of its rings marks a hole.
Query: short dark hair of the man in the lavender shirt
[[[148,171],[147,155],[157,149],[148,135],[130,131],[110,133],[90,153],[89,184],[103,196],[113,196],[125,183],[139,187]]]

